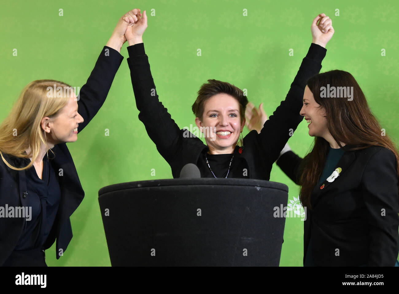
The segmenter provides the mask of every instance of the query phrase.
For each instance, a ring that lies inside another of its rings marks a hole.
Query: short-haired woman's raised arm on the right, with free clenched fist
[[[302,60],[285,100],[265,122],[258,134],[259,144],[269,156],[270,162],[277,160],[280,151],[303,119],[299,112],[302,108],[306,82],[322,67],[321,62],[326,55],[325,46],[334,34],[331,24],[330,18],[325,14],[319,14],[314,18],[311,26],[313,40],[308,53]]]

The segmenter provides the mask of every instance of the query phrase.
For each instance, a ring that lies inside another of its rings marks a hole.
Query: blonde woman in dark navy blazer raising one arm
[[[79,96],[56,80],[36,80],[22,91],[0,126],[0,265],[46,266],[72,238],[69,217],[84,191],[66,142],[75,142],[107,98],[122,62],[124,33],[140,10],[122,16]]]

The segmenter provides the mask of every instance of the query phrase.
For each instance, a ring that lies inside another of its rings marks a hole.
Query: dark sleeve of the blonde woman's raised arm
[[[84,119],[84,122],[78,126],[78,133],[103,106],[122,60],[123,56],[117,50],[104,46],[86,84],[82,86],[77,97],[78,112]]]

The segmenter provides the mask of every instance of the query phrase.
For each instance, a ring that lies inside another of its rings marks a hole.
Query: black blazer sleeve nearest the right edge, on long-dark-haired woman
[[[363,199],[367,209],[370,248],[366,266],[395,266],[399,252],[399,199],[396,158],[381,148],[363,172]]]

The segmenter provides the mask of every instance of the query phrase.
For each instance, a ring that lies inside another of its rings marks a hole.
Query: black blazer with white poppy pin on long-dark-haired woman
[[[277,165],[299,184],[302,158],[284,153]],[[345,151],[333,182],[314,187],[304,221],[304,258],[312,237],[316,266],[395,266],[399,252],[396,158],[383,147]],[[334,168],[334,169],[335,169]],[[334,170],[331,171],[331,173]]]

